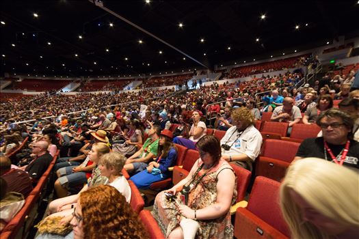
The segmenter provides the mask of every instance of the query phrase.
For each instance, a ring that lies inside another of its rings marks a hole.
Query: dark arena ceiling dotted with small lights
[[[94,1],[1,0],[1,75],[213,69],[359,36],[357,0],[100,2],[178,51]]]

